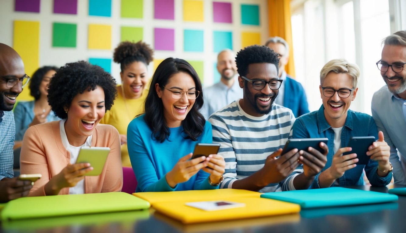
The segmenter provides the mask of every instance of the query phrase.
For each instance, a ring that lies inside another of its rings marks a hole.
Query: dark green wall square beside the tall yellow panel
[[[76,27],[73,23],[54,23],[52,47],[76,48]]]

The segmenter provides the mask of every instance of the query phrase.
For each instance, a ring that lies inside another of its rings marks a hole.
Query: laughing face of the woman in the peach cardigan
[[[86,138],[93,134],[96,125],[106,112],[104,104],[104,90],[96,86],[93,91],[77,94],[67,111],[65,131],[72,146],[81,146]]]

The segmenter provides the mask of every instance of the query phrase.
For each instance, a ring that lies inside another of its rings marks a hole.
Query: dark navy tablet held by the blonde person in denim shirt
[[[356,157],[358,159],[358,162],[356,164],[366,165],[369,163],[369,156],[367,155],[368,147],[371,146],[374,142],[374,136],[351,137],[350,142],[348,143],[348,147],[351,147],[352,150],[343,153],[343,155],[356,153]]]

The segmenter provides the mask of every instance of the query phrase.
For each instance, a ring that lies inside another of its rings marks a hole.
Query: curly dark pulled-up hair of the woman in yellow
[[[141,40],[136,43],[123,41],[114,49],[113,60],[120,64],[122,72],[134,61],[141,61],[148,66],[153,60],[153,50]]]

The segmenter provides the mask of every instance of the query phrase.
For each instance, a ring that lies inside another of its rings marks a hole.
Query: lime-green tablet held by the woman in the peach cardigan
[[[85,176],[98,176],[103,171],[110,148],[108,147],[82,147],[80,148],[76,163],[90,163],[93,170]]]

